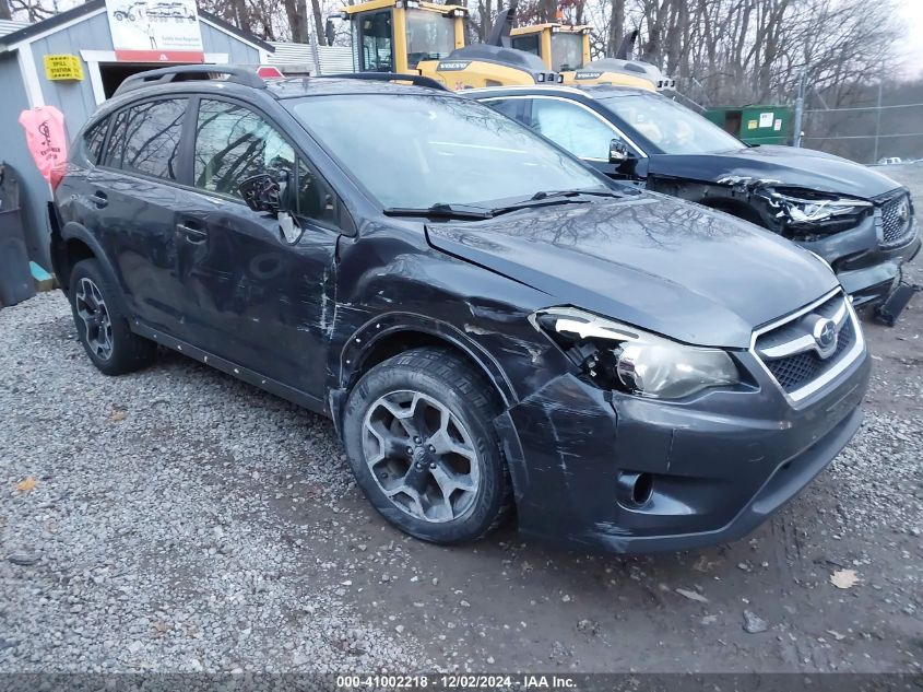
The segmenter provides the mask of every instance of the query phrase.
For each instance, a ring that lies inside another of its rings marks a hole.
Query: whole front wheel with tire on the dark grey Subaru
[[[450,351],[415,349],[350,392],[343,439],[356,481],[391,524],[425,541],[476,540],[510,509],[489,384]]]

